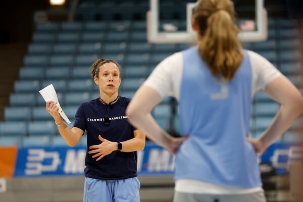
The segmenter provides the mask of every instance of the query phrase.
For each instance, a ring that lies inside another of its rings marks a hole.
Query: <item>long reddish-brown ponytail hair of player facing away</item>
[[[233,79],[243,58],[233,3],[230,0],[199,1],[192,16],[200,36],[200,57],[214,76]]]

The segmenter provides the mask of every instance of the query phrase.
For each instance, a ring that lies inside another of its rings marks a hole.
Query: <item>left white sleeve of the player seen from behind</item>
[[[182,53],[175,53],[159,63],[143,85],[156,90],[162,98],[174,96],[179,99],[182,67]]]

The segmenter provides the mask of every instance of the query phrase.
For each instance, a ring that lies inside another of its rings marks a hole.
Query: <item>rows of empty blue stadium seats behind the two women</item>
[[[184,26],[184,22],[174,24],[180,29]],[[260,53],[294,84],[302,86],[301,47],[296,24],[296,21],[270,19],[268,40],[243,43],[243,47]],[[145,21],[36,24],[33,42],[28,46],[19,80],[10,95],[10,106],[5,109],[5,121],[0,123],[0,144],[64,145],[38,91],[52,83],[63,110],[73,122],[78,106],[99,95],[90,77],[90,65],[98,58],[114,59],[121,64],[119,93],[132,97],[155,65],[188,46],[147,43]],[[278,108],[264,92],[256,94],[251,136],[259,136],[270,125]],[[166,98],[152,114],[164,129],[178,132],[179,118],[175,111],[170,98]],[[296,141],[296,131],[301,127],[296,121],[280,140]],[[86,143],[83,140],[81,144]]]

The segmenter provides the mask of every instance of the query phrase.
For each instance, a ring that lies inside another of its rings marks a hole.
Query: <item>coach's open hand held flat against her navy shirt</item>
[[[96,161],[99,161],[100,159],[102,159],[103,157],[111,154],[113,151],[117,150],[117,142],[111,142],[107,139],[104,139],[103,137],[101,137],[101,135],[98,136],[99,140],[102,141],[102,143],[97,144],[97,145],[92,145],[89,148],[93,149],[88,151],[88,154],[95,154],[92,156],[92,158],[96,158]]]

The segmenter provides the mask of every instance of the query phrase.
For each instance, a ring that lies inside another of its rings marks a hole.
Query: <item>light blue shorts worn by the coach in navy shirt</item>
[[[139,202],[138,178],[98,180],[85,177],[83,202]]]

